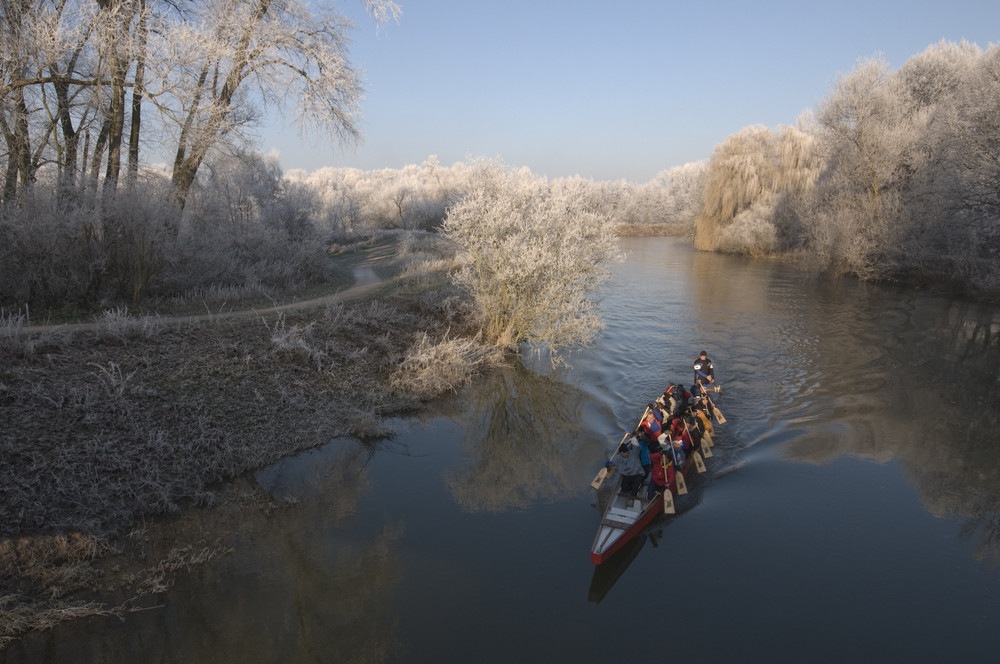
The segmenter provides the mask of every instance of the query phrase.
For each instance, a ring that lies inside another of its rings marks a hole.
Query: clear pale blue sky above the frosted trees
[[[645,182],[708,158],[743,127],[794,124],[838,73],[881,53],[893,69],[942,39],[1000,41],[995,0],[679,2],[399,0],[376,31],[358,0],[363,144],[259,129],[285,170],[445,166],[500,157],[550,178]]]

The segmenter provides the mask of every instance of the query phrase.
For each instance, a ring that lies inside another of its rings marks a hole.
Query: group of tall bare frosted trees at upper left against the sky
[[[391,0],[362,4],[380,23],[400,15]],[[47,164],[67,194],[88,172],[91,190],[103,178],[114,193],[123,162],[134,182],[140,144],[162,140],[183,203],[209,154],[242,147],[263,106],[350,143],[352,27],[308,0],[0,0],[0,195]]]

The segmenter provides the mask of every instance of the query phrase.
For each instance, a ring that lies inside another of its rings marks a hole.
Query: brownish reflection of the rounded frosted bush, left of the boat
[[[578,494],[603,438],[583,423],[586,394],[525,369],[492,372],[463,395],[468,465],[446,476],[452,495],[469,512],[523,508],[535,501]],[[586,449],[586,451],[583,451]]]

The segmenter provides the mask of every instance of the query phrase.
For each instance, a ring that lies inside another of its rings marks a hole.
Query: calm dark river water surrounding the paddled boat
[[[258,473],[280,507],[231,555],[7,661],[996,661],[1000,309],[624,248],[568,370],[529,359],[391,441]],[[702,348],[709,472],[595,568],[589,482]]]

